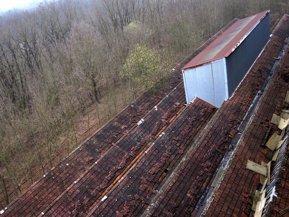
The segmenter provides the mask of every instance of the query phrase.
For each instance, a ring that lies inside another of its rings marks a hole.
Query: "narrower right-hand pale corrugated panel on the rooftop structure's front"
[[[212,71],[216,97],[215,106],[220,107],[224,100],[226,100],[227,95],[223,60],[212,62]]]

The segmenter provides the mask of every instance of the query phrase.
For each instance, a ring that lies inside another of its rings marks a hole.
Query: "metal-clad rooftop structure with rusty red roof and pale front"
[[[219,107],[269,41],[269,10],[236,21],[182,68],[186,101],[195,96]]]

